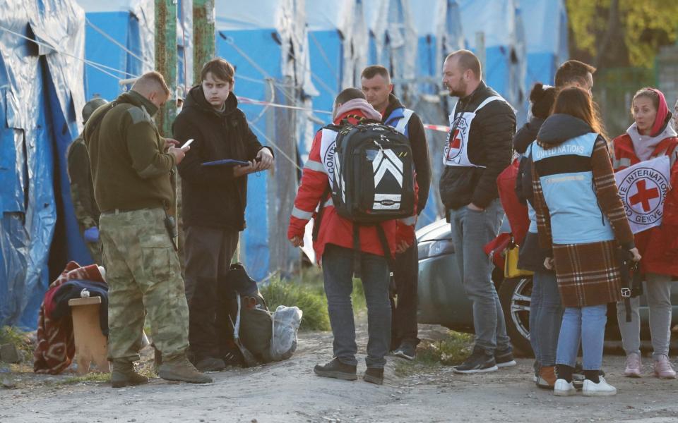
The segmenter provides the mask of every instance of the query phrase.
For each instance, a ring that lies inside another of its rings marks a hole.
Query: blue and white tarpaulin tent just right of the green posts
[[[217,54],[236,67],[234,92],[258,101],[310,105],[311,83],[304,2],[251,0],[247,7],[216,4]],[[297,140],[312,134],[307,111],[241,102],[250,126],[276,155],[275,173],[249,176],[240,258],[261,281],[290,269],[299,253],[287,242],[287,219],[297,190]]]

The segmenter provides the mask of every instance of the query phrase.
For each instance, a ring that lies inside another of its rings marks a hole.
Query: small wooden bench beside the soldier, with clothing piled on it
[[[97,364],[100,372],[110,372],[108,341],[99,324],[100,305],[100,297],[69,300],[73,317],[73,337],[76,341],[78,374],[88,373],[92,362]]]

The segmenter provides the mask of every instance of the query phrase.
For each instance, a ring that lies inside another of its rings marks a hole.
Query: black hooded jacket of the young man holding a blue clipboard
[[[262,147],[231,93],[226,109],[215,111],[201,85],[186,96],[184,109],[172,125],[174,138],[194,142],[177,166],[182,177],[184,226],[210,226],[242,231],[245,228],[247,176],[234,178],[233,168],[201,166],[220,159],[253,160]],[[268,148],[268,147],[267,147]],[[271,151],[272,152],[272,151]]]

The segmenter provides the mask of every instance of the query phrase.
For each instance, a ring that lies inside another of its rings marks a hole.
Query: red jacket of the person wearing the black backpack
[[[366,102],[367,103],[367,102]],[[360,109],[352,109],[340,114],[335,118],[334,123],[340,124],[347,119],[352,124],[357,124],[362,118],[366,118],[365,113]],[[369,116],[369,118],[373,118]],[[323,216],[318,230],[318,238],[314,242],[314,251],[317,261],[320,263],[323,257],[325,245],[334,244],[340,247],[353,248],[353,223],[339,216],[332,203],[331,195],[323,197],[330,187],[330,176],[326,162],[331,160],[331,152],[334,151],[333,142],[335,137],[328,133],[331,130],[319,130],[311,145],[309,159],[304,165],[301,185],[295,198],[295,207],[290,216],[290,226],[287,228],[287,238],[292,239],[295,236],[304,237],[304,228],[311,218],[316,216],[316,209],[319,204],[324,204]],[[326,133],[325,142],[323,142],[323,132]],[[325,156],[325,157],[322,157]],[[415,192],[418,188],[415,186]],[[395,255],[396,245],[401,240],[411,244],[414,240],[414,217],[404,219],[403,221],[385,221],[381,223],[388,246],[391,248],[391,255]],[[411,224],[405,224],[411,223]],[[379,236],[376,228],[362,226],[359,233],[360,251],[374,255],[383,256],[383,249],[379,242]]]

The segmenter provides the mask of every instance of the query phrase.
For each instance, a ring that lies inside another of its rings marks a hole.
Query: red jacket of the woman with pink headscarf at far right
[[[671,186],[664,202],[661,226],[636,233],[635,241],[643,259],[643,271],[678,276],[678,137],[662,140],[650,158],[663,154],[671,158]],[[641,162],[634,150],[631,136],[626,133],[612,140],[612,167],[621,171]]]

